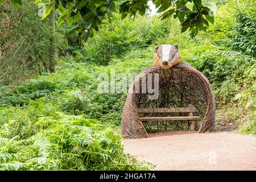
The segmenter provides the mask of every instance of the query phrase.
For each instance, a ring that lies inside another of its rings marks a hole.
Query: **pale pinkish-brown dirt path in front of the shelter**
[[[158,133],[123,140],[125,151],[155,170],[256,170],[256,137],[231,132]]]

